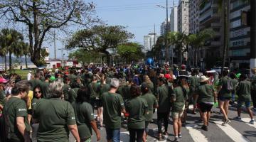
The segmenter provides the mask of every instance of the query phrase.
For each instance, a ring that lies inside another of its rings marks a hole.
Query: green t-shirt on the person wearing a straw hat
[[[213,96],[213,85],[211,84],[203,84],[198,87],[198,103],[201,102],[214,102],[214,96]]]

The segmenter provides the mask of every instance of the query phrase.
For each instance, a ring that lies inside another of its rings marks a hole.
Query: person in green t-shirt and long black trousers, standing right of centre
[[[158,100],[159,107],[157,108],[157,126],[159,131],[159,141],[162,138],[162,120],[164,119],[164,135],[168,132],[169,114],[171,109],[169,87],[165,84],[166,80],[164,77],[159,77],[157,83],[159,87],[156,89],[156,99]]]

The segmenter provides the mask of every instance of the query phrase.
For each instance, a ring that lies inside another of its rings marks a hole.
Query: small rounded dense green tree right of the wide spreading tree
[[[117,53],[125,59],[126,63],[132,61],[138,61],[144,58],[144,53],[142,53],[142,45],[138,43],[124,43],[117,47]]]

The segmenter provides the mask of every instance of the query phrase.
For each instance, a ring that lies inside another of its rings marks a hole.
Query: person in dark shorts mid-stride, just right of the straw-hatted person
[[[231,91],[228,90],[228,84],[231,84],[230,80],[230,77],[228,77],[228,70],[223,70],[223,77],[220,78],[218,84],[218,104],[220,111],[223,114],[222,125],[224,126],[231,122],[230,119],[228,119],[228,105],[231,99]]]

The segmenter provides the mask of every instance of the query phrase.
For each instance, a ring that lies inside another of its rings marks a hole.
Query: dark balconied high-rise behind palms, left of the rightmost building
[[[223,40],[224,40],[224,14],[220,10],[218,1],[210,0],[203,2],[199,0],[199,29],[212,28],[215,37],[206,42],[206,45],[199,50],[198,60],[203,61],[201,66],[206,63],[207,67],[222,65]]]

